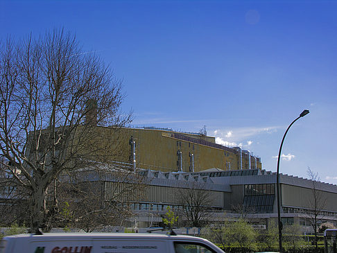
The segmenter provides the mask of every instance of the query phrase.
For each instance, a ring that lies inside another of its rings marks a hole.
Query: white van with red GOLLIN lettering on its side
[[[18,234],[0,242],[0,253],[214,253],[223,251],[193,236],[166,234]]]

